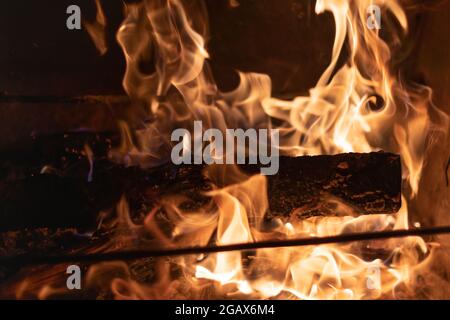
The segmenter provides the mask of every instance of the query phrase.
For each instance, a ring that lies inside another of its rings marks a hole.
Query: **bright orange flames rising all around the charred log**
[[[389,13],[395,20],[389,43],[379,30],[366,27],[370,5],[378,5],[383,17]],[[156,121],[136,132],[137,145],[127,139],[125,129],[124,143],[111,157],[129,165],[156,166],[168,159],[172,130],[192,130],[195,120],[222,132],[238,127],[276,128],[280,152],[286,155],[374,150],[401,154],[403,206],[392,215],[355,216],[337,210],[333,217],[267,221],[266,177],[248,177],[231,165],[210,166],[206,174],[216,183],[206,193],[211,199],[208,206],[188,212],[180,199],[163,199],[163,209],[173,223],[170,234],[159,226],[156,209],[139,226],[140,232],[159,244],[186,246],[407,229],[407,203],[419,191],[427,133],[446,133],[448,119],[430,103],[428,88],[406,87],[390,70],[391,50],[407,32],[407,19],[398,2],[317,0],[316,14],[329,11],[334,17],[332,58],[309,95],[292,100],[272,97],[270,78],[256,73],[240,73],[238,88],[220,92],[208,68],[206,18],[201,9],[190,15],[180,0],[127,5],[117,34],[127,61],[123,84],[132,98],[146,103]],[[345,45],[349,46],[347,61],[338,68]],[[145,73],[140,63],[152,54],[156,54],[155,70]],[[374,97],[383,101],[378,110],[369,107]],[[431,120],[431,112],[438,114],[438,121]],[[119,207],[120,220],[136,230],[138,226],[123,218],[124,204]],[[133,299],[374,299],[395,296],[400,286],[413,286],[416,273],[430,259],[428,245],[420,237],[222,252],[171,260],[181,270],[176,278],[168,275],[168,263],[158,260],[161,276],[156,283],[138,284],[126,277],[112,281],[112,289],[118,298]],[[95,266],[90,274],[101,267]],[[190,293],[181,294],[186,291],[181,287]]]

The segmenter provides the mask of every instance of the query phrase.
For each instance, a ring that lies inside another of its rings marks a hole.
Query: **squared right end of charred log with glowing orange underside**
[[[339,205],[359,214],[394,213],[401,205],[401,161],[392,153],[281,157],[269,176],[270,213],[337,215]],[[349,208],[351,209],[351,208]]]

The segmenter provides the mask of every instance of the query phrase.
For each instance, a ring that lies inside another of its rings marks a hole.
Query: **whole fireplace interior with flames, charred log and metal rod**
[[[450,298],[450,1],[0,6],[0,298]],[[194,121],[278,171],[173,163]]]

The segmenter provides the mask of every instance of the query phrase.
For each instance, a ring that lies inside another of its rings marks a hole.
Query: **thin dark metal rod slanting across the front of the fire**
[[[0,265],[28,266],[50,265],[69,262],[101,262],[116,260],[136,260],[149,257],[168,257],[202,253],[217,253],[227,251],[256,250],[267,248],[300,247],[331,243],[346,243],[353,241],[368,241],[408,236],[426,236],[450,233],[450,226],[431,228],[403,229],[380,232],[349,233],[327,237],[310,237],[301,239],[270,240],[252,243],[238,243],[222,246],[170,248],[162,250],[129,250],[105,252],[97,254],[68,254],[68,255],[17,255],[0,257]]]

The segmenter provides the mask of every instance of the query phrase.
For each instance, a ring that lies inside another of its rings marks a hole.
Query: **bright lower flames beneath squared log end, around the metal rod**
[[[407,228],[407,211],[397,215],[291,218],[265,226],[265,177],[253,176],[241,183],[211,192],[218,206],[217,244],[329,236]],[[256,204],[256,205],[255,205]],[[267,231],[262,231],[267,230]],[[365,260],[364,252],[378,251],[385,260]],[[379,298],[400,283],[412,281],[414,270],[427,263],[427,246],[419,237],[345,245],[260,249],[249,255],[224,252],[195,265],[195,278],[220,284],[219,296],[250,295],[253,298],[362,299]],[[423,260],[423,261],[422,261]],[[230,287],[230,285],[233,285]]]

